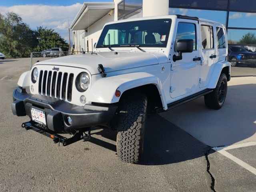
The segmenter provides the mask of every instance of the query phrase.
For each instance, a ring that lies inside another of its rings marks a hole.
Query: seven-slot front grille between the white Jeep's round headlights
[[[38,93],[62,100],[72,100],[72,84],[74,74],[43,71],[39,73]]]

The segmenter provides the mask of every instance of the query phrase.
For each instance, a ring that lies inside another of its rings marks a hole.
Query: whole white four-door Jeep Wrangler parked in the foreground
[[[180,15],[110,22],[94,52],[37,62],[24,72],[12,112],[30,117],[22,127],[64,146],[90,139],[92,126],[116,129],[118,158],[138,163],[147,113],[200,96],[208,108],[223,106],[227,55],[220,23]]]

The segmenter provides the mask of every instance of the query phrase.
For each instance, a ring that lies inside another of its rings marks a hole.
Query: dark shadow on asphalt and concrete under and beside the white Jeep
[[[206,108],[202,97],[164,115],[148,118],[140,164],[164,165],[191,160],[205,156],[210,146],[226,146],[254,135],[256,84],[229,86],[228,89],[226,102],[220,110]],[[174,124],[182,124],[182,129]],[[95,134],[116,141],[116,132],[101,130]],[[116,151],[114,144],[100,139],[92,139],[92,142]]]

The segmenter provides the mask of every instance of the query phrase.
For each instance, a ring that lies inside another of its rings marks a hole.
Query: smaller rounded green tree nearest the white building
[[[68,43],[54,31],[54,29],[43,28],[42,26],[37,28],[36,36],[38,38],[38,45],[35,51],[41,52],[42,50],[60,47],[63,51],[68,51]]]

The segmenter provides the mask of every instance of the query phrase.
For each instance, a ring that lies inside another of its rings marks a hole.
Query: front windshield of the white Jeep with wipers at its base
[[[106,25],[97,48],[138,45],[141,47],[166,47],[171,19],[130,21]]]

